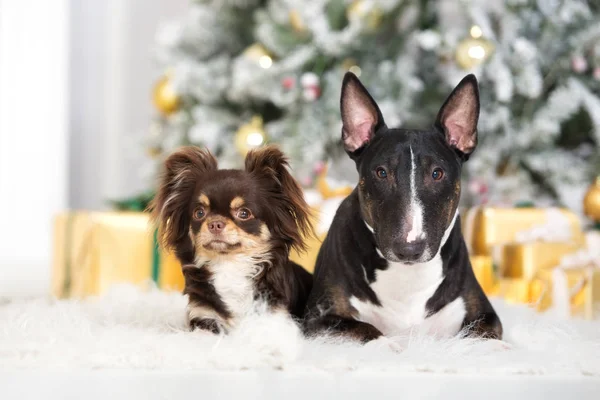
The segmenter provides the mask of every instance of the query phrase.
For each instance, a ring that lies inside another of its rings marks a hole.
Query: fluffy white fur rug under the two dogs
[[[0,299],[0,371],[112,368],[181,371],[365,371],[600,377],[600,321],[559,320],[494,299],[510,349],[415,333],[395,352],[302,338],[280,315],[257,314],[229,336],[184,328],[186,299],[117,287],[86,301]]]

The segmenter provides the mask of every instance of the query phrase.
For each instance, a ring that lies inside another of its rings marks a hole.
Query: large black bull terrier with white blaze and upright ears
[[[368,342],[424,328],[501,339],[461,233],[463,162],[477,144],[479,90],[466,76],[425,130],[390,129],[358,78],[344,77],[342,139],[359,182],[319,252],[304,328]]]

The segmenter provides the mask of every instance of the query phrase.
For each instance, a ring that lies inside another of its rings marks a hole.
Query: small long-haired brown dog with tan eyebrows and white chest
[[[220,170],[188,146],[164,167],[151,210],[183,268],[190,328],[226,333],[257,302],[300,318],[312,275],[289,253],[313,228],[284,154],[267,146],[248,153],[245,169]]]

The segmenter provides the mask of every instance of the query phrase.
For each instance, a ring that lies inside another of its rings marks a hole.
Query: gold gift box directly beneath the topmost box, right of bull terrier
[[[538,271],[556,267],[565,255],[580,248],[581,244],[575,242],[510,243],[500,246],[497,263],[502,277],[530,281]]]

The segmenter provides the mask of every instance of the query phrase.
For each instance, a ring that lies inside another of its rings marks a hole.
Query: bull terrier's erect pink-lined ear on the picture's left
[[[375,100],[352,72],[344,76],[340,109],[344,148],[352,156],[384,125],[383,117]]]

